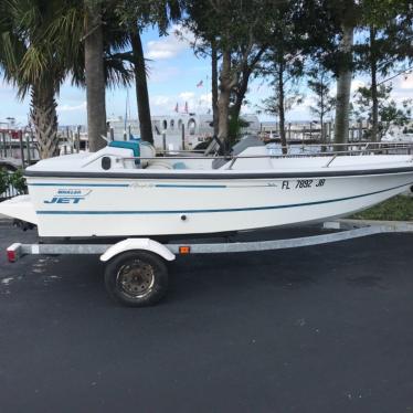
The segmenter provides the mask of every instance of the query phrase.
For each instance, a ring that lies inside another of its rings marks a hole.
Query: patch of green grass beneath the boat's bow
[[[359,220],[413,221],[413,198],[398,195],[351,218]]]

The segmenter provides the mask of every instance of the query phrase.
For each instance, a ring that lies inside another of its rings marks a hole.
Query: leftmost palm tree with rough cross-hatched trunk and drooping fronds
[[[57,150],[55,96],[61,84],[70,75],[75,84],[85,84],[84,12],[83,3],[76,0],[0,2],[0,66],[6,81],[18,87],[18,96],[31,96],[31,123],[42,158]],[[121,33],[107,30],[106,51],[109,43],[121,46]],[[107,53],[104,56],[106,83],[129,82],[123,62],[107,59]]]

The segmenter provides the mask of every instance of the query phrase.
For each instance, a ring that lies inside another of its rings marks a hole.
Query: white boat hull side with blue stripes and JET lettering
[[[413,171],[213,180],[29,177],[28,183],[40,236],[155,236],[343,216],[404,192]]]

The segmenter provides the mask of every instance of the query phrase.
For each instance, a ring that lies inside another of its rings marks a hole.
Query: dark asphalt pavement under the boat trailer
[[[170,265],[113,303],[96,256],[6,261],[0,412],[413,412],[413,234]]]

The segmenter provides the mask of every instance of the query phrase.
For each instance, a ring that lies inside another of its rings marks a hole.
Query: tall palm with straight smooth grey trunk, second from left
[[[129,38],[121,27],[115,6],[116,2],[107,4],[103,0],[67,0],[64,13],[52,23],[50,30],[51,40],[55,36],[72,38],[76,43],[66,44],[66,64],[73,83],[86,86],[91,151],[106,145],[102,139],[107,131],[106,86],[129,86],[133,78],[133,70],[117,53],[128,45]]]

